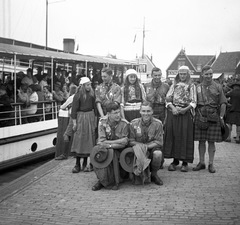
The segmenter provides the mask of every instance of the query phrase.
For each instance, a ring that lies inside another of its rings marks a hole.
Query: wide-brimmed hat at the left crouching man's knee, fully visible
[[[90,154],[90,161],[96,168],[105,168],[113,160],[113,149],[100,148],[95,146]]]

